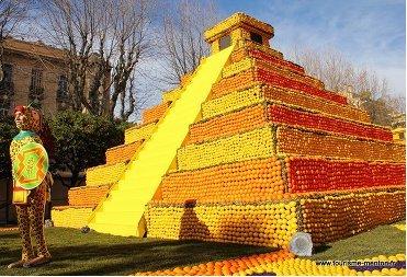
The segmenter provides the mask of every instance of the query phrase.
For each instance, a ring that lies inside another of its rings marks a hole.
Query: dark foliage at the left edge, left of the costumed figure
[[[11,176],[10,143],[19,134],[12,117],[1,118],[0,122],[0,178]]]

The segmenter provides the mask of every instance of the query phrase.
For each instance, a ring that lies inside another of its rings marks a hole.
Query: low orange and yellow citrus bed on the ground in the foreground
[[[285,253],[286,254],[285,254]],[[405,262],[405,254],[392,256],[378,255],[372,258],[358,261],[363,265],[375,262]],[[332,261],[324,261],[332,262]],[[337,261],[338,262],[338,261]],[[406,276],[405,268],[384,267],[373,270],[358,272],[346,265],[321,265],[317,261],[307,258],[294,258],[294,255],[285,250],[267,254],[250,255],[226,261],[214,261],[205,264],[176,267],[157,272],[136,273],[143,276]]]

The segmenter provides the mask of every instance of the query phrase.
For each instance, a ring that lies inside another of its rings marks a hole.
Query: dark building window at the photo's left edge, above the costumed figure
[[[0,116],[10,113],[14,96],[13,66],[2,65],[3,79],[0,82]]]

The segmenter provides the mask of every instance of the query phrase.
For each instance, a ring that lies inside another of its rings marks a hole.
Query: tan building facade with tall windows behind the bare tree
[[[0,116],[33,102],[47,115],[67,108],[68,72],[61,49],[15,38],[5,38],[3,48]]]

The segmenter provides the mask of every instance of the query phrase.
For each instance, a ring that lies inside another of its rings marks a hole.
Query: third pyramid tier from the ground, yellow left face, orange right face
[[[405,161],[404,147],[385,141],[269,125],[178,150],[178,170],[196,170],[273,155],[317,155],[366,161]]]

